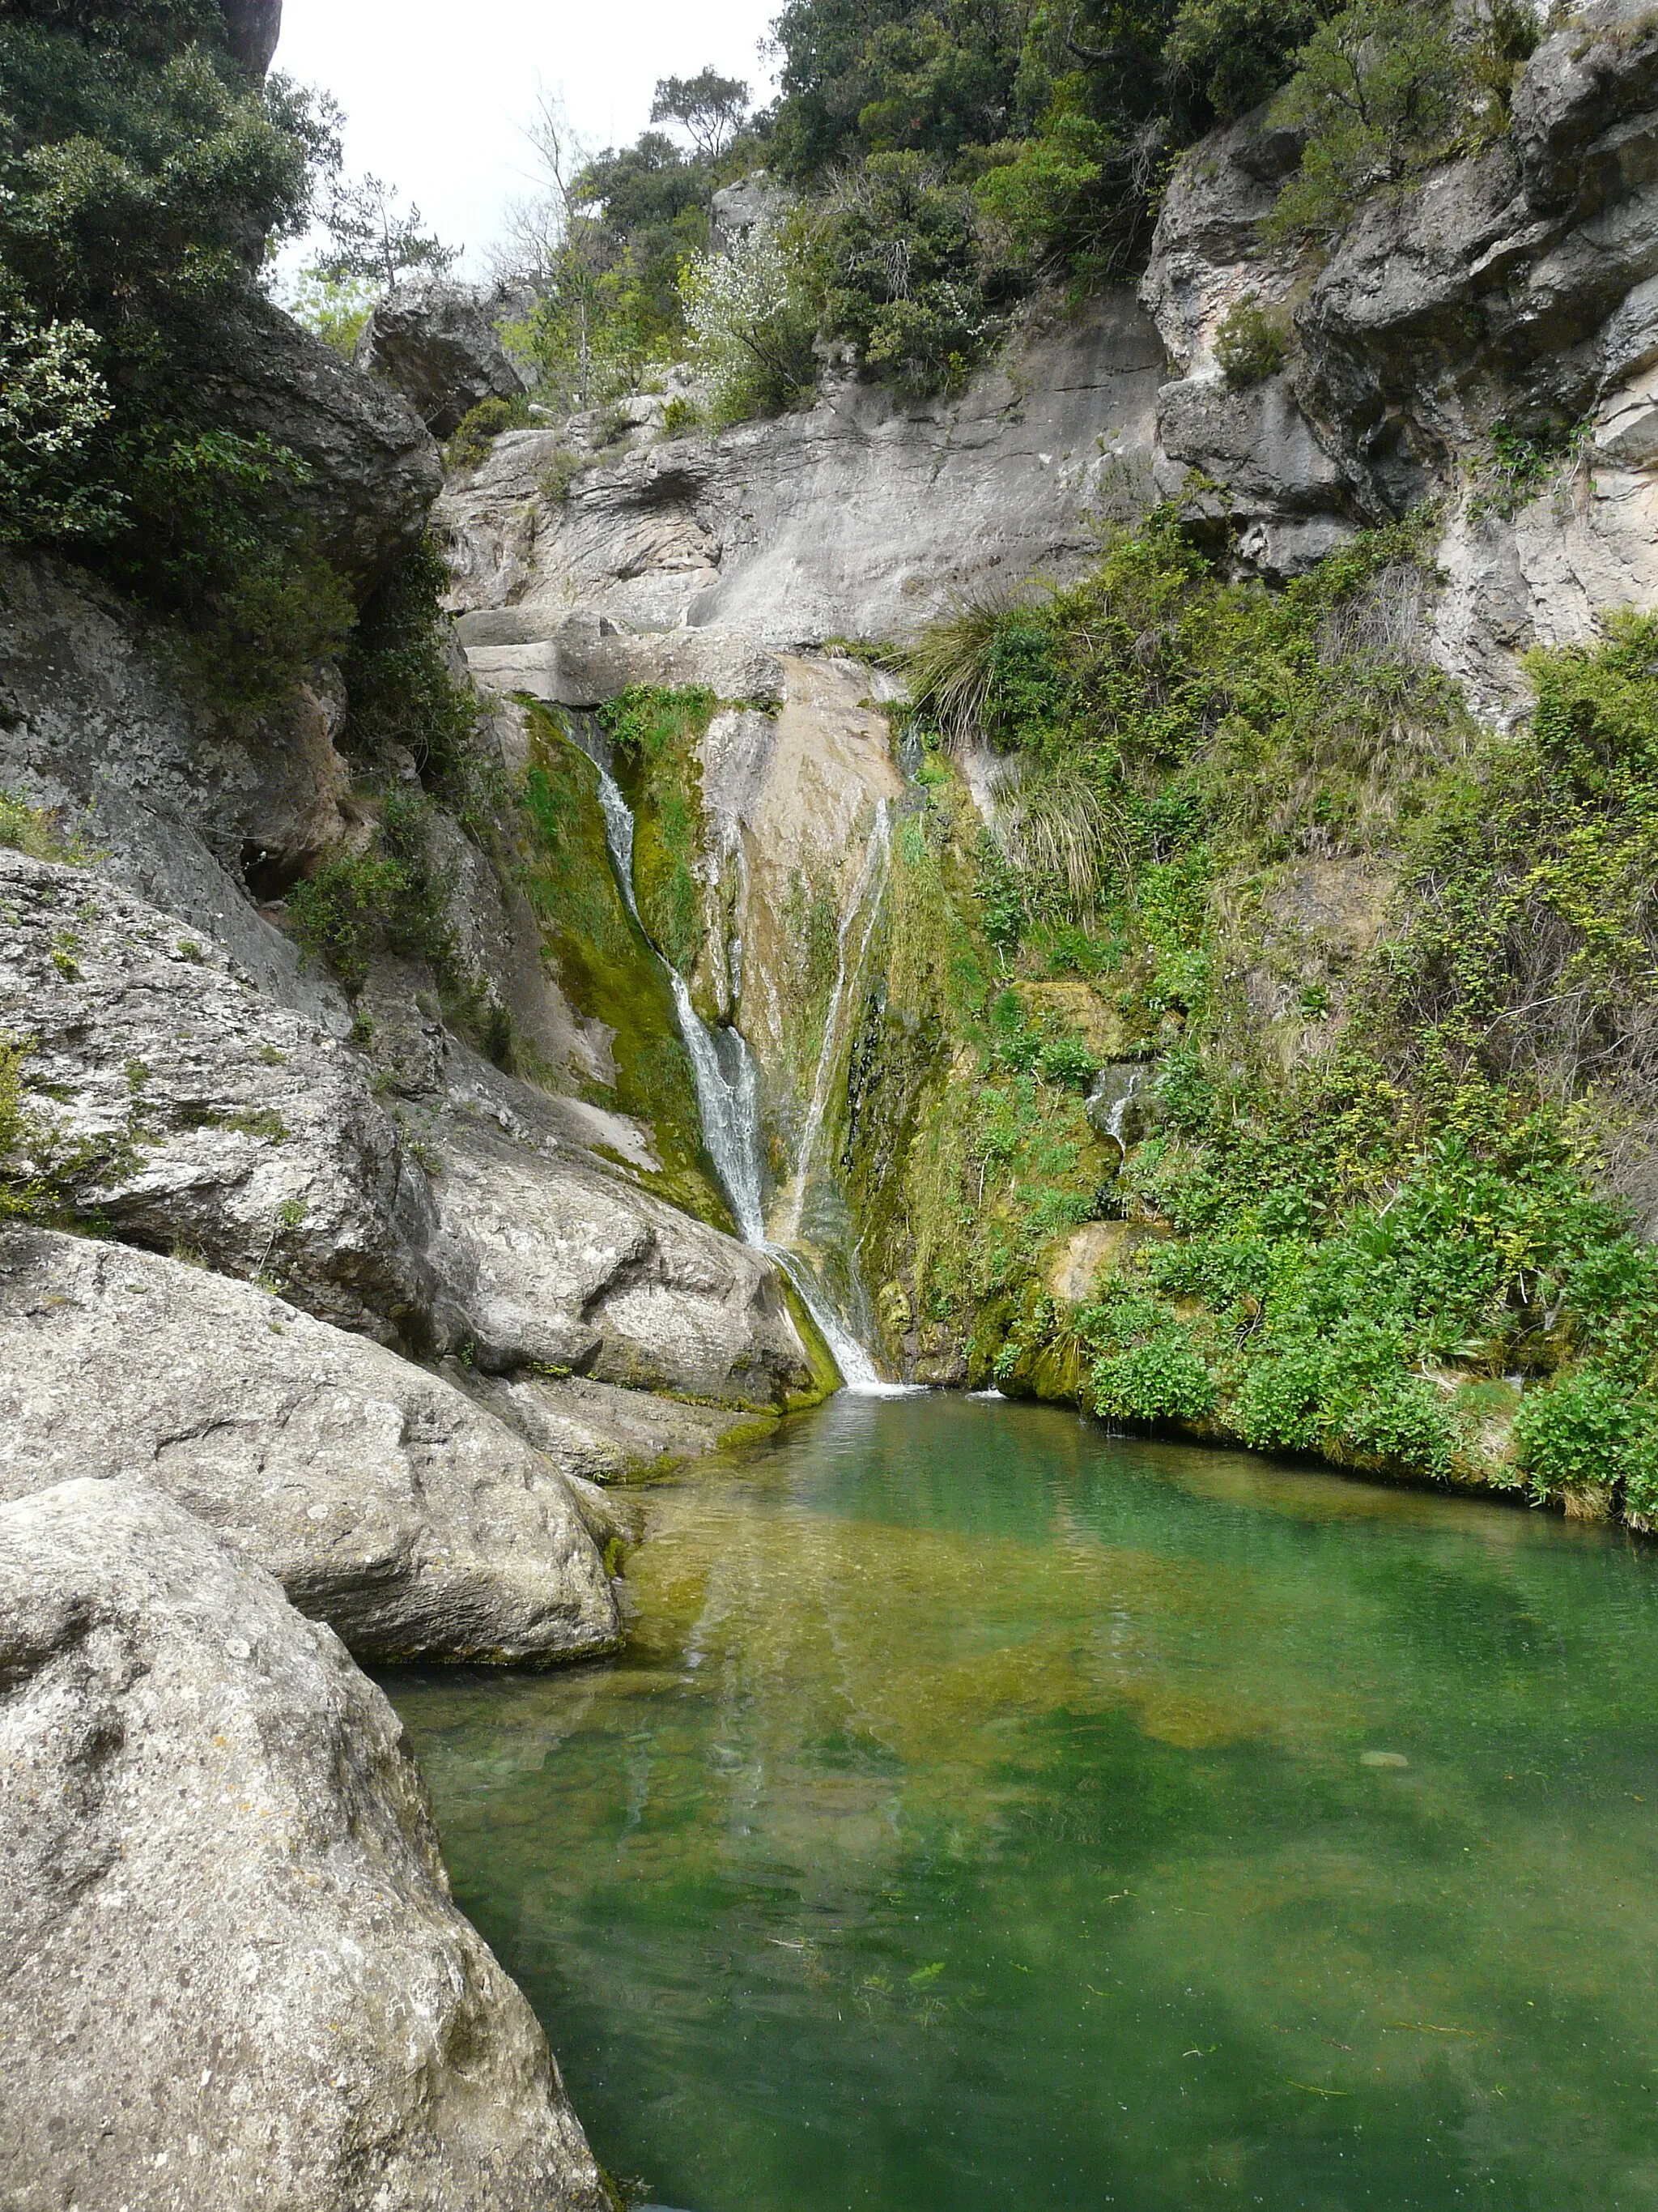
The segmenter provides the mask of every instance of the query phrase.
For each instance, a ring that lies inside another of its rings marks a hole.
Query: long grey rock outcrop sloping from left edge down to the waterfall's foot
[[[730,1405],[809,1387],[772,1263],[579,1148],[615,1117],[513,1084],[438,1029],[433,1181],[365,1062],[210,938],[4,849],[0,900],[24,1150],[60,1203],[489,1371],[550,1363]]]

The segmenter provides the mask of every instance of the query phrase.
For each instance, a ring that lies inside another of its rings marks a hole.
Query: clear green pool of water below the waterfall
[[[652,1515],[623,1659],[389,1683],[652,2199],[1658,2208],[1658,1555],[951,1398]]]

